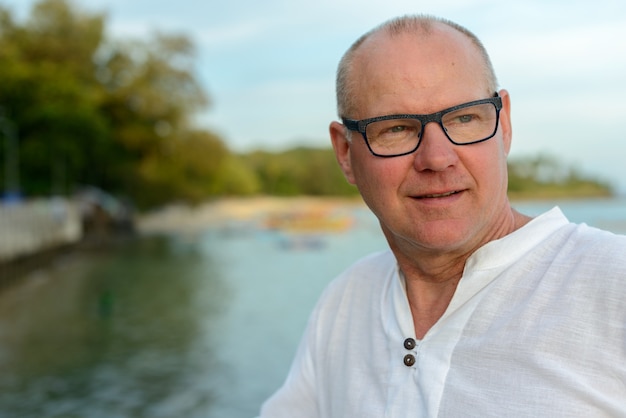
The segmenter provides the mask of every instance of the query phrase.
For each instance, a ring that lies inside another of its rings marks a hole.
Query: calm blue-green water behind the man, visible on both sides
[[[626,233],[624,199],[559,205]],[[0,292],[0,417],[254,417],[325,285],[386,248],[369,212],[353,216],[305,248],[229,225],[69,254],[24,277]]]

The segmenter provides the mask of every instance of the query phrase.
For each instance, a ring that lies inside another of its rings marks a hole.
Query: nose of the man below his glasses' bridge
[[[444,171],[458,161],[454,145],[438,123],[424,126],[422,140],[415,152],[415,168],[418,171]]]

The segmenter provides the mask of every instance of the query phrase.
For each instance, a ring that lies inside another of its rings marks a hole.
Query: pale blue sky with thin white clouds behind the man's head
[[[35,0],[0,0],[26,16]],[[329,146],[335,70],[361,34],[425,13],[473,31],[512,101],[511,157],[544,153],[626,194],[623,0],[74,0],[110,36],[185,34],[211,98],[198,124],[234,151]]]

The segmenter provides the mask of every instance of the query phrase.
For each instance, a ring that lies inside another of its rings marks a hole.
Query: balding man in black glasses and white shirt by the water
[[[511,100],[431,17],[360,38],[330,135],[391,251],[335,280],[261,416],[626,416],[626,237],[507,199]]]

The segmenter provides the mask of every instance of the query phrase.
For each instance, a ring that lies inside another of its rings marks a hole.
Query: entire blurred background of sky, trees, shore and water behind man
[[[0,417],[251,417],[324,286],[386,248],[334,72],[407,13],[474,31],[509,190],[626,233],[626,4],[0,0]]]

